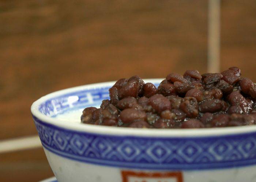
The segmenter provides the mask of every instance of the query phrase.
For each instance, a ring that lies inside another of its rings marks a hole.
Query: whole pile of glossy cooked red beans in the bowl
[[[83,110],[81,122],[133,128],[208,128],[256,123],[256,86],[237,67],[201,75],[170,73],[158,88],[139,76],[118,80],[110,100]]]

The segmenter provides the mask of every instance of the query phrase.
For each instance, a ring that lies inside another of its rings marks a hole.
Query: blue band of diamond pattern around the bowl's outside
[[[113,136],[68,130],[33,118],[47,150],[80,162],[154,170],[256,165],[256,132],[200,138]]]

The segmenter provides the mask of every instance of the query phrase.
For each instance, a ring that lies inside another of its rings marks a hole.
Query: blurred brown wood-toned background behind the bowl
[[[0,146],[35,136],[31,104],[60,89],[214,66],[256,82],[255,9],[255,0],[0,0]],[[1,181],[51,176],[40,145],[0,149]]]

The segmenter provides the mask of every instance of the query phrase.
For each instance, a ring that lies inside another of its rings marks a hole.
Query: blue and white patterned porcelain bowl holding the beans
[[[162,79],[145,79],[156,86]],[[80,123],[114,82],[69,88],[31,106],[59,182],[256,182],[256,126],[143,129]]]

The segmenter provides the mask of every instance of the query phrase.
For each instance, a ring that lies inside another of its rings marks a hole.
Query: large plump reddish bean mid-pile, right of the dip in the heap
[[[171,108],[170,100],[161,94],[155,94],[150,97],[148,104],[159,113]]]

